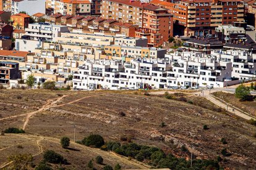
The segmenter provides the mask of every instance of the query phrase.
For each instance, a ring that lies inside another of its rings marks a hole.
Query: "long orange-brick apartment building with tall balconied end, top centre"
[[[173,15],[167,9],[148,3],[126,0],[103,0],[103,18],[138,25],[135,37],[148,38],[149,47],[158,47],[173,36]]]

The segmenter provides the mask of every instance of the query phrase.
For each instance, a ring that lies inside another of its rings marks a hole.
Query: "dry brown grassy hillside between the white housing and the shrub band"
[[[181,149],[184,145],[189,151],[193,147],[192,153],[200,159],[216,160],[221,156],[224,168],[255,169],[255,126],[186,102],[134,92],[1,90],[1,107],[2,129],[25,127],[30,134],[58,139],[68,136],[73,140],[75,124],[76,140],[90,133],[100,134],[105,140],[128,137],[132,142],[155,145],[167,153],[189,158],[190,154]],[[163,122],[166,126],[161,127]],[[208,130],[203,129],[205,124]],[[228,144],[223,144],[222,138]],[[231,156],[221,155],[223,148]],[[69,154],[73,157],[77,153]],[[78,167],[89,161],[75,160]]]

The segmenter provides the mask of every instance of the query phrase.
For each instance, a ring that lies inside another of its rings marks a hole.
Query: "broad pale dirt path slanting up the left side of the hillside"
[[[61,97],[59,98],[55,98],[55,99],[50,99],[48,100],[48,102],[43,105],[43,107],[41,107],[40,109],[36,110],[36,111],[32,111],[30,113],[27,113],[27,117],[25,119],[25,122],[23,124],[23,127],[22,129],[25,129],[27,124],[28,124],[28,121],[30,119],[31,116],[35,115],[36,113],[40,112],[40,111],[44,111],[44,110],[47,110],[48,108],[51,108],[53,107],[54,105],[56,105],[56,103],[58,103],[59,101],[61,101],[64,97],[66,97],[67,95],[62,95]]]

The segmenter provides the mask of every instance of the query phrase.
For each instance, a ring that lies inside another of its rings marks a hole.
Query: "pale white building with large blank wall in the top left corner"
[[[28,15],[38,12],[45,14],[45,1],[42,0],[12,0],[12,14],[25,11]]]

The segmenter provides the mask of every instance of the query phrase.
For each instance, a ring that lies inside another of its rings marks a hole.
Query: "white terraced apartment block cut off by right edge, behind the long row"
[[[239,79],[256,78],[256,54],[245,51],[213,51],[211,56],[223,62],[232,63],[232,77]]]

